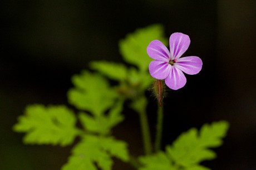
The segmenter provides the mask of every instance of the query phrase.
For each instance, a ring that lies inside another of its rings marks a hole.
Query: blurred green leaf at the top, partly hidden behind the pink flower
[[[134,64],[142,71],[146,71],[152,60],[147,55],[147,45],[152,40],[160,40],[166,44],[164,37],[164,28],[160,24],[150,25],[146,28],[137,29],[134,33],[120,41],[119,48],[124,60],[127,63]]]

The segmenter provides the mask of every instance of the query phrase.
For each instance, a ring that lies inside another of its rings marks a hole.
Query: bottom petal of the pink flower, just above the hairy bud
[[[165,79],[165,84],[173,90],[178,90],[186,84],[183,72],[175,67],[171,67],[170,74]]]

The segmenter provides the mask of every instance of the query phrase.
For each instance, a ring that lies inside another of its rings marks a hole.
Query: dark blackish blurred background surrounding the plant
[[[12,126],[28,104],[67,104],[70,77],[92,60],[122,62],[118,42],[136,28],[161,23],[165,35],[191,39],[198,75],[165,100],[163,144],[203,123],[230,122],[212,169],[256,169],[256,1],[5,0],[0,4],[0,169],[60,169],[71,147],[29,146]],[[154,110],[155,103],[151,102]],[[150,122],[155,112],[149,112]],[[137,115],[114,134],[142,153]],[[154,125],[151,126],[154,130]],[[115,169],[130,169],[117,161]]]

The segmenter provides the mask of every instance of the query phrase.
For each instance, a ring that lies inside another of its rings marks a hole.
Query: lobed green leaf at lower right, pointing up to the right
[[[209,147],[221,145],[222,138],[225,137],[228,127],[228,122],[219,121],[213,122],[211,125],[203,125],[199,132],[195,128],[191,128],[188,132],[182,133],[173,142],[172,146],[166,146],[166,153],[160,152],[152,156],[140,157],[140,162],[144,164],[141,169],[149,170],[154,167],[152,162],[156,159],[159,162],[163,162],[162,164],[171,164],[175,170],[209,170],[209,168],[201,166],[199,163],[216,157],[215,152],[209,150]],[[159,154],[161,154],[161,157]],[[157,167],[156,164],[155,169],[162,168],[159,168],[161,165]]]

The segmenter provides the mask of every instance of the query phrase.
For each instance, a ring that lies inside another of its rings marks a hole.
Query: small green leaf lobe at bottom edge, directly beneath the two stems
[[[143,167],[140,170],[172,170],[175,169],[164,152],[139,157]]]

